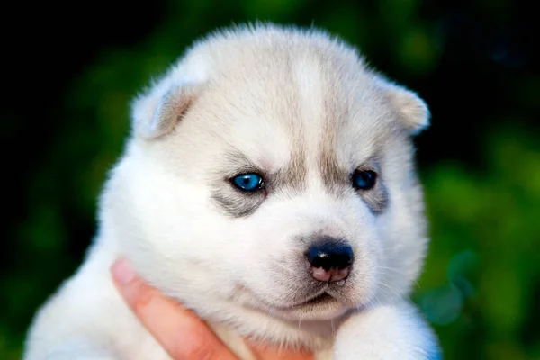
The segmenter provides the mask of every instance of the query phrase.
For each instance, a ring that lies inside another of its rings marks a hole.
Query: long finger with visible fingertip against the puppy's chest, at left
[[[176,360],[238,360],[192,311],[145,284],[124,260],[112,266],[116,287],[143,326]]]

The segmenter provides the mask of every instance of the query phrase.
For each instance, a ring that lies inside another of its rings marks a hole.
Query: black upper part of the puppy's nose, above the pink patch
[[[327,238],[311,246],[306,257],[312,267],[345,269],[353,264],[353,249],[344,241]]]

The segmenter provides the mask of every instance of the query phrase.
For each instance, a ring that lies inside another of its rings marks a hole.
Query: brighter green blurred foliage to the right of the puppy
[[[424,175],[431,248],[416,300],[446,358],[540,358],[540,143],[501,127],[482,174],[443,163]]]

